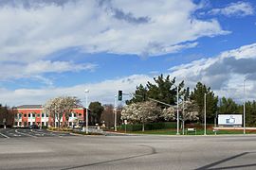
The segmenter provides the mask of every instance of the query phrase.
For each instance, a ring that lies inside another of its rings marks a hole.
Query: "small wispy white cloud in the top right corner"
[[[247,16],[254,14],[254,8],[248,2],[236,2],[229,4],[226,8],[213,8],[209,14],[226,16]]]

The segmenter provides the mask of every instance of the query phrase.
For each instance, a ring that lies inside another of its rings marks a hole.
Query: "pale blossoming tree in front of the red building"
[[[57,118],[58,127],[60,127],[62,117],[64,116],[65,121],[68,122],[69,113],[71,112],[71,110],[78,107],[79,105],[80,105],[80,99],[78,99],[77,97],[60,96],[60,97],[51,98],[48,101],[46,101],[44,110],[46,112],[49,112],[50,116],[53,117],[54,126],[55,126],[55,119]],[[67,125],[66,122],[65,122],[65,125]]]

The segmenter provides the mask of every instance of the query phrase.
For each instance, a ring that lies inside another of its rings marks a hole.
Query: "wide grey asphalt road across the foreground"
[[[3,129],[0,132],[4,134]],[[35,134],[40,131],[18,132],[24,136],[0,138],[0,169],[256,169],[256,136],[252,135],[39,136]]]

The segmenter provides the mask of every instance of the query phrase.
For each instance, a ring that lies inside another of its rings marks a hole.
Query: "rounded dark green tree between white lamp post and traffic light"
[[[104,110],[104,107],[101,106],[101,103],[98,101],[91,102],[89,105],[89,109],[90,114],[93,118],[93,124],[101,123],[101,113]]]

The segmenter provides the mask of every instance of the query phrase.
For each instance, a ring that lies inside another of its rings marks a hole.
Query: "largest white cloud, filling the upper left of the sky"
[[[193,41],[200,37],[229,33],[216,20],[192,17],[197,7],[190,0],[81,0],[61,6],[57,1],[39,2],[15,7],[2,4],[1,60],[46,59],[48,54],[74,46],[86,53],[154,56],[194,47]]]

